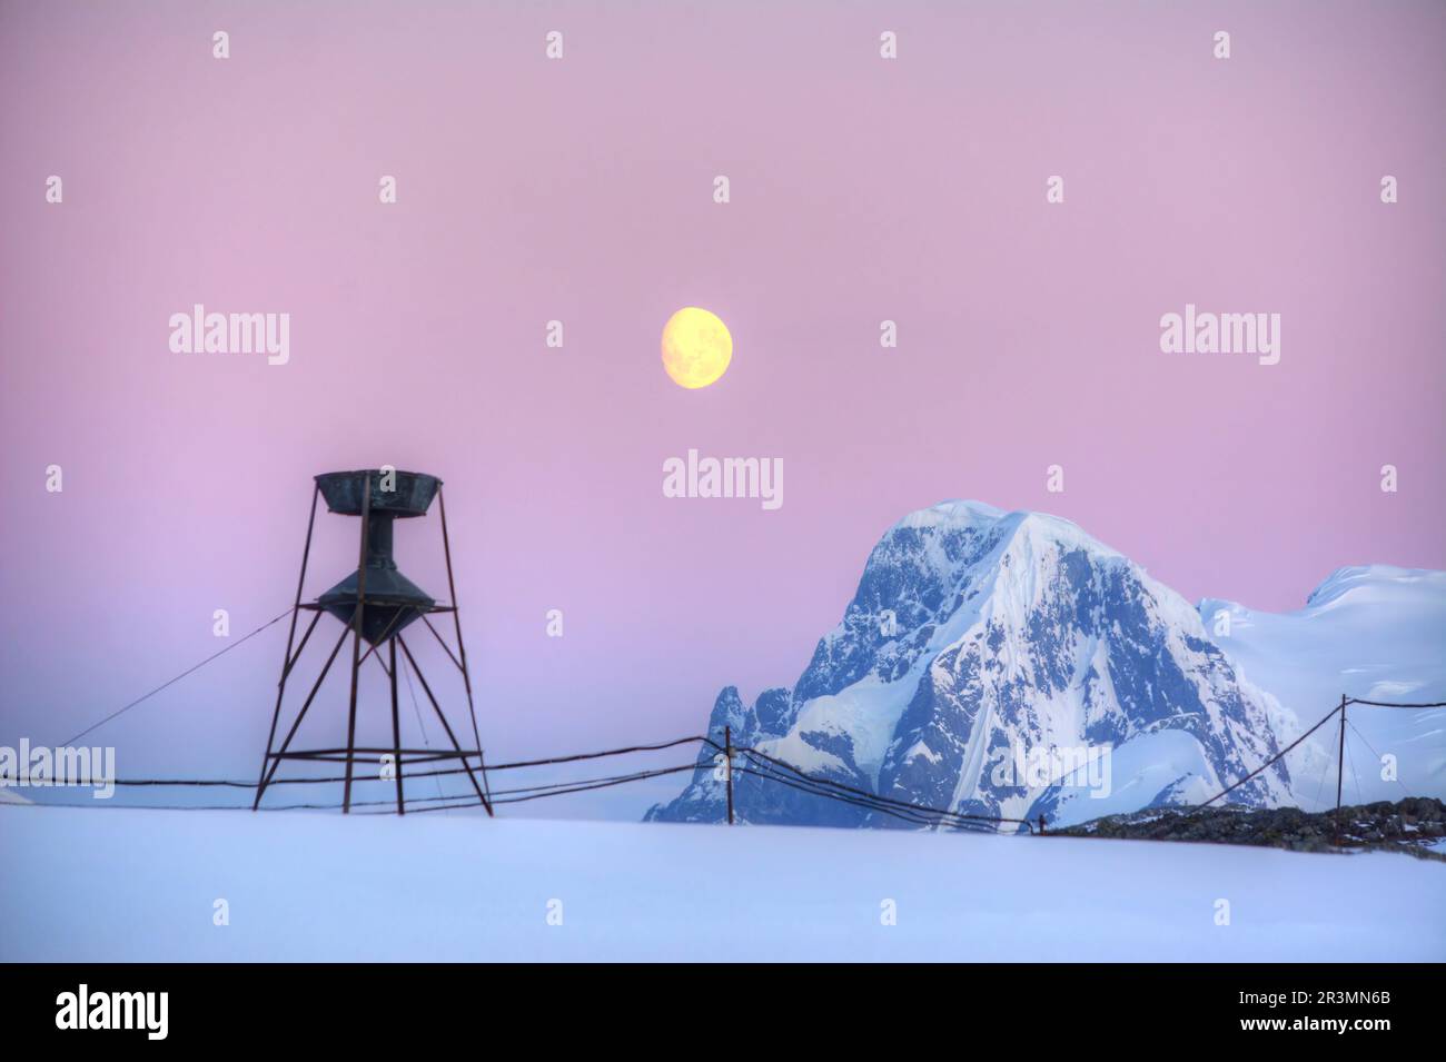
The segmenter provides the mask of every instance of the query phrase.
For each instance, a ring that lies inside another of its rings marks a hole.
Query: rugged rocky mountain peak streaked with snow
[[[881,796],[1070,824],[1205,799],[1296,724],[1244,681],[1196,608],[1128,558],[1054,516],[949,501],[873,548],[791,689],[746,705],[726,688],[709,734],[722,740],[724,725],[735,744]],[[1280,763],[1231,799],[1288,795]],[[706,751],[648,818],[717,821],[723,799]],[[735,802],[748,822],[901,825],[743,773]]]

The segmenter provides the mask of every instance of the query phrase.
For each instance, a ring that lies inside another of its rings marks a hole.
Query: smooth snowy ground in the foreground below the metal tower
[[[4,962],[1446,959],[1446,865],[1394,854],[6,806],[0,861]]]

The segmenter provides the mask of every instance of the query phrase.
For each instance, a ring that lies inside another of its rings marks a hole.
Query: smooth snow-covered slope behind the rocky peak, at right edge
[[[1299,728],[1283,727],[1281,741],[1329,712],[1342,694],[1446,701],[1446,572],[1340,568],[1294,613],[1213,598],[1199,611],[1241,675],[1299,720]],[[1446,709],[1352,705],[1346,715],[1355,727],[1346,730],[1348,800],[1397,800],[1407,792],[1446,798]],[[1309,811],[1335,802],[1338,741],[1330,724],[1290,754],[1296,802]],[[1395,782],[1381,777],[1381,756],[1395,757]]]

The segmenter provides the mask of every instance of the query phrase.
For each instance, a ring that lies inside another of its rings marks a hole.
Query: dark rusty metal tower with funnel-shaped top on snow
[[[477,799],[482,802],[482,806],[486,808],[487,815],[492,815],[492,799],[487,792],[487,774],[482,759],[482,738],[477,733],[477,712],[471,696],[471,675],[467,670],[467,650],[463,646],[461,618],[457,613],[457,584],[453,579],[451,542],[447,538],[447,501],[442,497],[441,487],[442,481],[435,475],[425,475],[422,472],[401,472],[390,468],[362,470],[356,472],[325,472],[324,475],[317,477],[317,488],[311,496],[311,517],[307,522],[307,545],[301,555],[301,578],[296,581],[296,604],[291,614],[291,633],[286,636],[286,656],[282,660],[281,681],[276,688],[276,709],[272,714],[270,735],[266,738],[266,756],[262,760],[260,780],[256,785],[256,800],[252,803],[253,811],[260,806],[262,796],[266,793],[266,787],[276,777],[276,772],[281,764],[285,761],[299,760],[309,763],[346,763],[346,789],[341,811],[350,812],[353,772],[359,757],[392,756],[393,769],[396,772],[398,815],[406,813],[406,803],[402,792],[403,764],[416,766],[419,763],[438,763],[447,760],[461,761],[463,770],[471,782],[473,789],[477,792]],[[328,511],[340,516],[357,516],[362,519],[362,548],[354,572],[347,575],[315,601],[304,604],[301,595],[307,582],[307,564],[311,558],[311,533],[317,524],[318,497],[324,497],[327,500]],[[425,516],[427,510],[431,509],[434,497],[437,498],[437,509],[441,514],[442,553],[447,561],[447,590],[451,594],[450,604],[437,603],[415,582],[402,575],[402,572],[396,568],[396,561],[392,558],[393,522]],[[307,611],[312,614],[311,623],[301,636],[301,644],[295,644],[296,620]],[[453,652],[451,646],[447,644],[445,639],[442,639],[441,633],[428,618],[429,616],[444,613],[451,613],[453,629],[457,637],[457,652]],[[278,748],[276,728],[281,722],[282,704],[286,696],[286,679],[291,676],[292,669],[301,659],[301,653],[305,650],[307,643],[311,640],[311,634],[317,629],[322,616],[333,616],[340,620],[343,624],[341,633],[337,637],[335,646],[333,646],[325,665],[321,668],[321,673],[312,683],[311,692],[307,695],[305,702],[296,712],[296,718],[291,724],[291,730],[286,733],[285,740]],[[412,650],[402,637],[402,630],[416,620],[421,620],[427,629],[431,630],[431,633],[437,637],[437,642],[447,650],[447,656],[451,657],[451,662],[457,665],[457,669],[461,672],[463,685],[467,689],[467,711],[471,717],[471,734],[474,741],[473,748],[461,747],[461,743],[457,740],[457,734],[447,721],[447,714],[437,702],[437,696],[432,694],[431,685],[427,682],[421,668],[416,665],[416,657],[412,656]],[[301,727],[301,721],[307,717],[307,711],[317,699],[321,683],[331,670],[331,665],[340,655],[341,646],[346,643],[348,634],[351,636],[351,695],[347,711],[347,743],[344,747],[294,750],[291,747],[292,738],[296,737],[296,730]],[[364,650],[362,649],[363,642],[367,646]],[[294,646],[295,652],[292,652]],[[451,741],[450,751],[402,747],[402,731],[396,701],[398,646],[402,647],[402,655],[406,657],[412,672],[416,675],[422,691],[427,694],[428,702],[431,702],[432,709],[437,712],[437,718],[441,720],[442,730],[447,731],[447,738]],[[383,649],[389,660],[382,660]],[[367,657],[373,653],[376,653],[377,663],[386,672],[390,685],[390,748],[362,748],[356,744],[357,682],[360,679],[362,665],[366,663]],[[473,766],[473,760],[476,760],[476,766]],[[366,761],[366,759],[362,761]]]

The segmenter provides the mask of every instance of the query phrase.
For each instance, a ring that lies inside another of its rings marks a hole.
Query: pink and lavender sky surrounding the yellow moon
[[[1066,516],[1192,601],[1446,568],[1443,29],[1439,4],[7,3],[0,743],[214,652],[214,608],[240,634],[289,605],[311,475],[369,464],[447,481],[502,754],[696,733],[723,683],[791,683],[878,536],[943,498]],[[195,302],[291,314],[291,363],[172,354]],[[1163,354],[1187,302],[1280,314],[1280,364]],[[684,305],[735,340],[700,392],[658,357]],[[664,498],[690,448],[782,458],[785,504]],[[354,522],[321,527],[311,595],[354,558]],[[398,558],[444,597],[432,535]],[[275,633],[97,738],[253,763]]]

